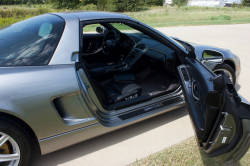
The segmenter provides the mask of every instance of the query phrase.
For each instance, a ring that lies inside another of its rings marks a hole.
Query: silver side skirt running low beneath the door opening
[[[185,101],[182,102],[178,102],[175,103],[171,106],[169,106],[168,108],[163,108],[161,110],[157,110],[157,112],[155,113],[151,113],[151,114],[143,114],[140,115],[136,118],[136,120],[131,120],[129,123],[120,125],[120,126],[116,126],[116,127],[105,127],[100,123],[94,123],[90,126],[87,127],[83,127],[83,128],[79,128],[67,133],[62,133],[60,135],[56,135],[54,137],[50,137],[47,139],[42,139],[39,140],[39,144],[41,147],[41,153],[42,154],[47,154],[47,153],[51,153],[53,151],[59,150],[63,147],[67,147],[79,142],[82,142],[83,140],[88,140],[91,139],[93,137],[97,137],[99,135],[102,134],[106,134],[108,132],[132,125],[134,123],[138,123],[140,121],[152,118],[154,116],[166,113],[168,111],[172,111],[174,109],[180,108],[185,106]]]

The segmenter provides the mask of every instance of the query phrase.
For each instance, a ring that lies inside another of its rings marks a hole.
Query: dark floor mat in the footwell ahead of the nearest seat
[[[135,83],[142,87],[141,95],[155,94],[174,88],[178,84],[178,79],[148,68],[136,75]]]

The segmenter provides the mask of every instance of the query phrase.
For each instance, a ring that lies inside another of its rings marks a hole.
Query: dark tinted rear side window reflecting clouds
[[[0,29],[0,66],[47,65],[65,22],[46,14]]]

